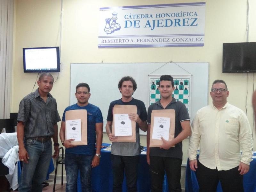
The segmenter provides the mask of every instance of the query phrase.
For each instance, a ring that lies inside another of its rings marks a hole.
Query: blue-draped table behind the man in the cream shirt
[[[198,160],[197,155],[197,160]],[[244,175],[244,192],[256,192],[256,152],[253,154],[253,161],[250,163],[250,170]],[[196,172],[192,171],[189,166],[189,159],[187,161],[186,168],[186,180],[185,180],[186,192],[199,191],[198,182],[196,179]],[[217,192],[222,192],[220,182],[217,187]]]

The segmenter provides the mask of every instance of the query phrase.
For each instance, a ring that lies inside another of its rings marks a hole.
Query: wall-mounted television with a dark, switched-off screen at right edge
[[[222,72],[256,72],[256,42],[223,43]]]

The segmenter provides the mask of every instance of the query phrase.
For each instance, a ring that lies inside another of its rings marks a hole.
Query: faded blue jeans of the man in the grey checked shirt
[[[26,139],[25,149],[29,159],[22,166],[19,191],[40,192],[52,158],[52,140],[42,143],[35,139]]]

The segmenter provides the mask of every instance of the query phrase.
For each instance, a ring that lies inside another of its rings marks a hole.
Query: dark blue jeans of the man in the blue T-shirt
[[[66,192],[77,191],[77,175],[80,170],[82,192],[92,191],[92,159],[93,155],[65,153],[65,169],[67,175]]]

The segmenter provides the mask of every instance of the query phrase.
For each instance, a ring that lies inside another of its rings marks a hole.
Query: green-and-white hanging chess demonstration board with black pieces
[[[174,91],[172,97],[181,101],[186,108],[190,116],[190,93],[191,93],[191,75],[188,76],[172,76],[174,81]],[[149,76],[149,105],[154,104],[161,99],[159,92],[160,76]]]

